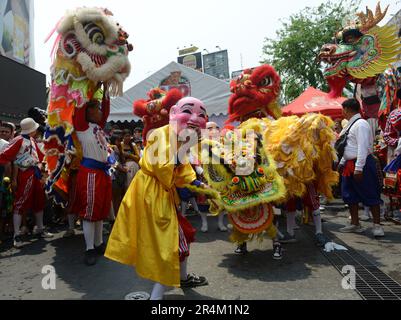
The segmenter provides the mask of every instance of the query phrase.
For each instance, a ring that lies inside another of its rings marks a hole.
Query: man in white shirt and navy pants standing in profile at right
[[[340,161],[339,171],[342,174],[341,193],[349,206],[351,224],[340,229],[341,232],[363,232],[359,224],[359,203],[370,207],[373,215],[373,235],[383,237],[380,226],[380,182],[376,161],[373,158],[373,136],[369,123],[360,115],[360,104],[355,99],[343,102],[343,113],[349,128],[344,155]]]

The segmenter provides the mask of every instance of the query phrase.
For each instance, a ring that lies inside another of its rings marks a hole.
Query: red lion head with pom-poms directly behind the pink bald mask
[[[134,102],[134,114],[141,117],[144,123],[144,143],[150,130],[169,123],[170,109],[183,98],[183,95],[178,89],[166,92],[160,88],[154,88],[148,92],[148,97],[148,100],[141,99]]]

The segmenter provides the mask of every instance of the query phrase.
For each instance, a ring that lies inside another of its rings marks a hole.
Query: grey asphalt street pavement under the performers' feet
[[[386,237],[375,240],[369,232],[363,235],[338,233],[348,217],[341,204],[327,206],[323,217],[328,235],[337,236],[401,282],[400,226],[385,223]],[[189,219],[200,229],[199,217]],[[188,271],[206,276],[209,285],[185,291],[171,289],[166,299],[361,299],[357,292],[342,288],[342,276],[314,244],[312,226],[303,225],[296,233],[299,241],[284,245],[283,259],[275,261],[269,239],[250,243],[249,253],[244,256],[234,254],[229,233],[217,230],[217,218],[208,219],[209,232],[198,232],[197,241],[191,247]],[[55,231],[53,239],[31,240],[22,249],[11,248],[7,243],[0,246],[0,299],[122,300],[130,292],[151,291],[152,283],[139,278],[132,267],[104,257],[93,267],[85,266],[82,232],[64,239],[62,230]],[[46,265],[55,268],[55,290],[42,288],[45,277],[42,268]]]

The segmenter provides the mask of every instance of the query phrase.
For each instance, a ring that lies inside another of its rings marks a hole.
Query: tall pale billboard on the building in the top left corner
[[[33,67],[33,1],[0,1],[0,55]]]

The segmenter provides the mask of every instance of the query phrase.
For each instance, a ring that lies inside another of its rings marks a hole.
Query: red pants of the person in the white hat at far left
[[[27,210],[32,213],[43,211],[45,207],[45,190],[43,184],[35,177],[35,170],[19,170],[17,192],[15,194],[14,213],[23,214]]]

